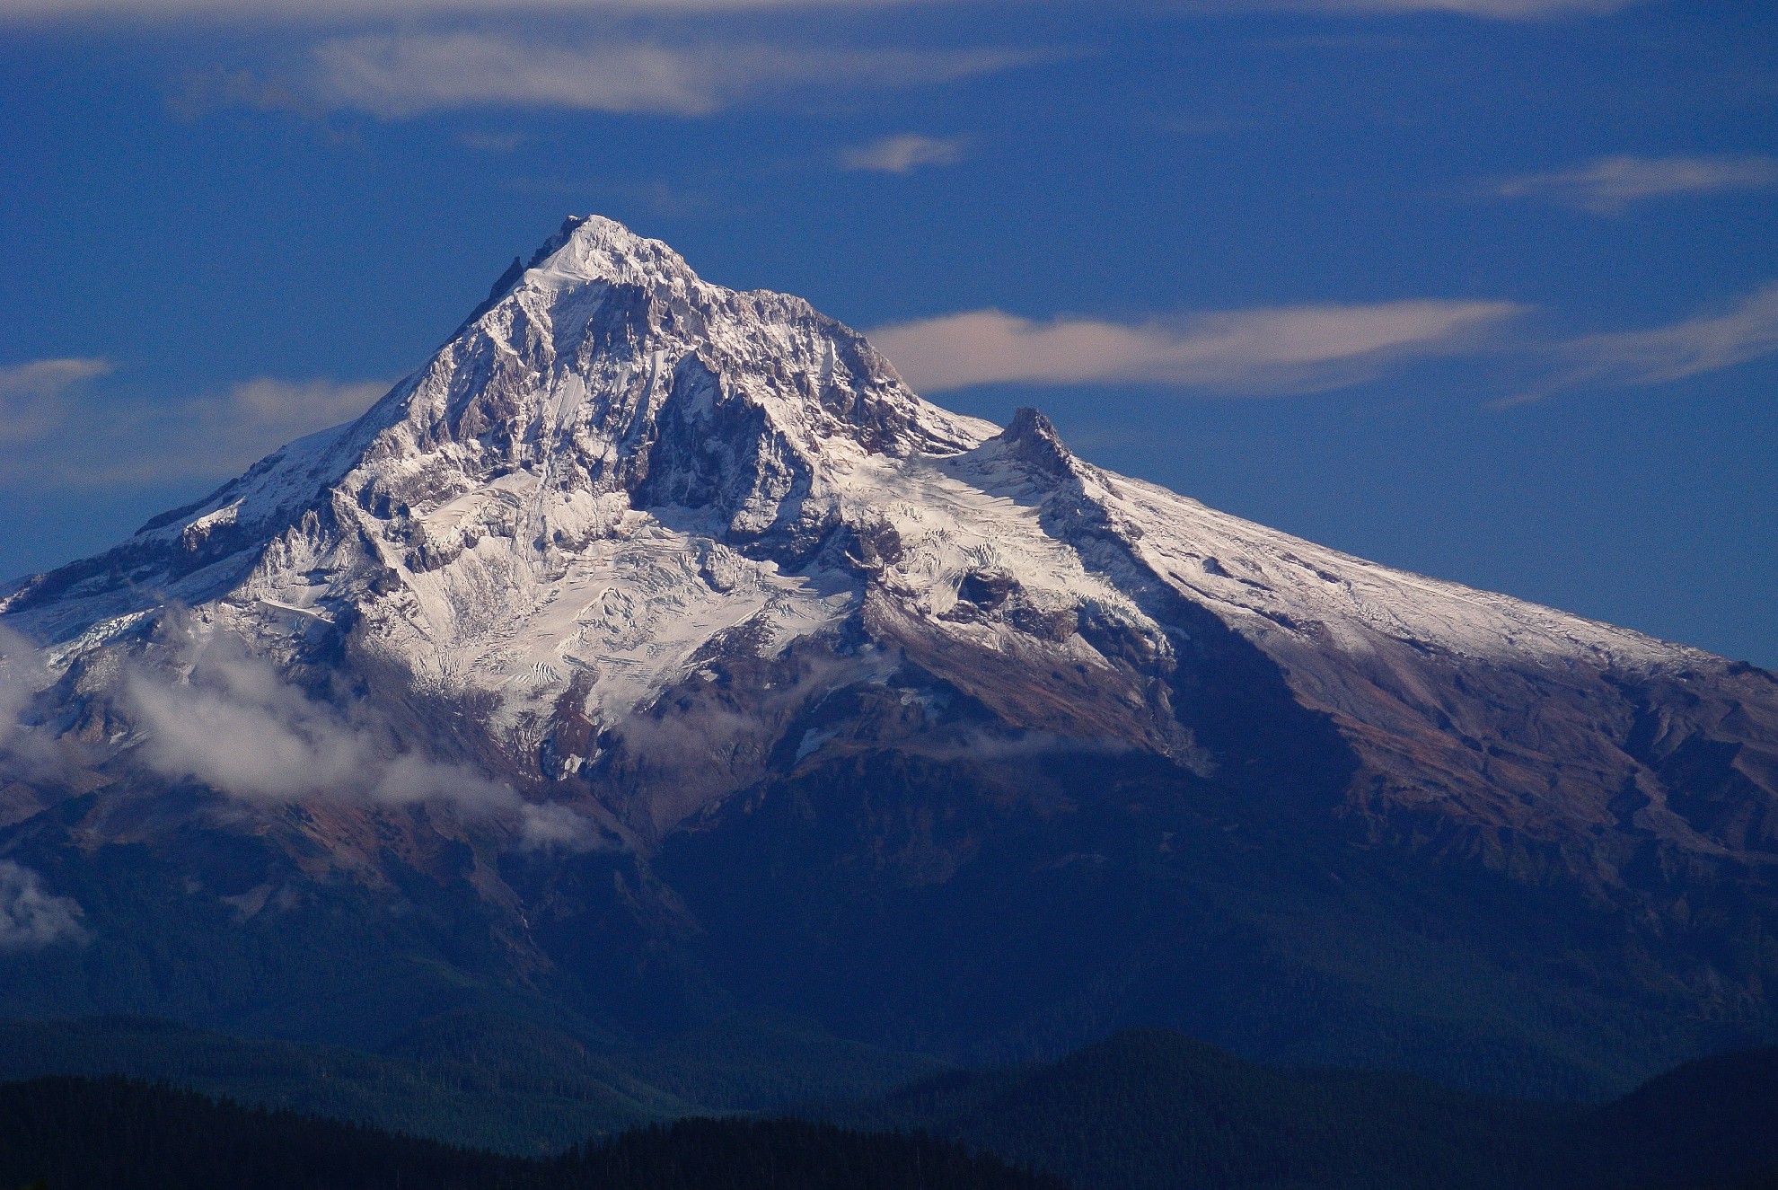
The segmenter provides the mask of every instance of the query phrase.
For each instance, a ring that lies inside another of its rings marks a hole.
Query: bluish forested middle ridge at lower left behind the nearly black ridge
[[[0,1081],[126,1074],[528,1156],[683,1115],[878,1094],[942,1069],[761,1016],[613,1048],[503,1014],[450,1012],[380,1053],[146,1017],[0,1021]]]

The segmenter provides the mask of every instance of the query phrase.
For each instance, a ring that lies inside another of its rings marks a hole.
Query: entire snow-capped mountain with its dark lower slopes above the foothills
[[[1773,1028],[1773,674],[951,414],[608,219],[357,422],[0,623],[44,649],[4,847],[76,889],[89,955],[142,946],[103,909],[128,872],[188,889],[192,946],[345,913],[432,973],[388,977],[409,1001],[617,1032],[740,1003],[1028,1055],[1163,1023],[1597,1090]],[[30,955],[14,1007],[153,985]]]

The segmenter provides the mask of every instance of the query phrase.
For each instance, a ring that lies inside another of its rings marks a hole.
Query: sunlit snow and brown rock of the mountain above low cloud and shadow
[[[172,649],[169,608],[644,841],[837,740],[795,724],[907,667],[1008,733],[1205,774],[1261,747],[1225,720],[1277,681],[1357,754],[1355,802],[1552,838],[1639,783],[1650,829],[1758,850],[1666,809],[1632,685],[1741,683],[1741,745],[1778,747],[1757,671],[1225,516],[1074,459],[1031,411],[946,413],[800,299],[597,217],[359,422],[0,603],[50,646],[52,720],[124,752],[117,658]]]

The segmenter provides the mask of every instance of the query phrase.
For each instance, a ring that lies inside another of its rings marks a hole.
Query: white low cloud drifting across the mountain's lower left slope
[[[137,756],[165,777],[194,779],[247,802],[430,802],[517,822],[530,845],[590,847],[597,831],[564,806],[404,749],[363,704],[309,697],[226,635],[194,640],[178,674],[137,669],[123,706],[142,733]]]

